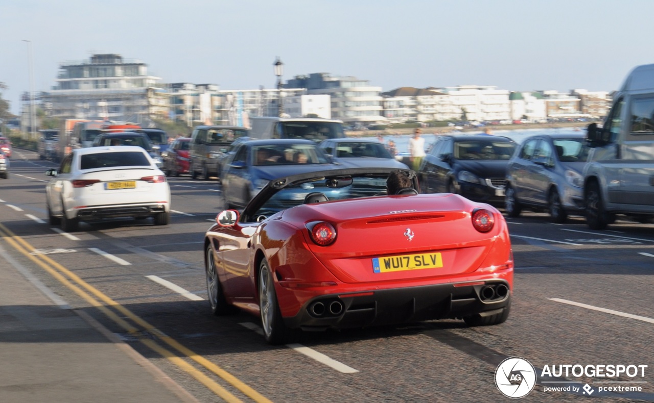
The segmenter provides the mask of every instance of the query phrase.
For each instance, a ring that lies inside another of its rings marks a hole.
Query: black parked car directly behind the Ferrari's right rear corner
[[[456,193],[473,201],[504,204],[506,167],[516,143],[492,135],[444,135],[419,169],[423,193]]]

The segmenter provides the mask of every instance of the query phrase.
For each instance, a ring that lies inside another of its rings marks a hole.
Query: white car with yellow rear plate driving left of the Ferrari
[[[50,225],[77,231],[80,221],[105,218],[170,220],[170,187],[163,172],[141,147],[78,148],[59,169],[48,169],[46,185]]]

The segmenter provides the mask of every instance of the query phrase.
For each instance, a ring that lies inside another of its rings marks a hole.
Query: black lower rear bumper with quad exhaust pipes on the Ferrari
[[[504,280],[321,295],[297,315],[284,317],[284,323],[293,329],[325,330],[490,315],[508,308],[510,298]]]

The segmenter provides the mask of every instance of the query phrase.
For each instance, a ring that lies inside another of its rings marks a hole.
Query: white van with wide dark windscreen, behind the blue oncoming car
[[[344,138],[343,121],[320,118],[250,118],[251,138],[305,138],[321,142],[328,138]]]

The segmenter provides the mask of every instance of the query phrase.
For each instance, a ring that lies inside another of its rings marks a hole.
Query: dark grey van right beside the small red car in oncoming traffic
[[[220,176],[218,158],[226,153],[233,140],[247,137],[248,129],[239,126],[196,126],[191,135],[188,150],[189,172],[193,179],[201,175],[208,180],[211,176]]]

